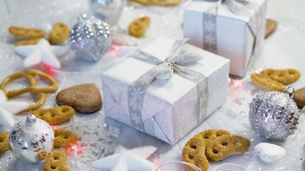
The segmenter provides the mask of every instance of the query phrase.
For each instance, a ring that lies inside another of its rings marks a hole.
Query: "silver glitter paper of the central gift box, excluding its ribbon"
[[[174,40],[161,36],[140,50],[164,60],[173,43]],[[187,67],[207,77],[206,118],[226,100],[229,60],[189,44],[185,44],[183,50],[203,56]],[[103,105],[107,116],[132,126],[128,113],[128,85],[153,67],[156,65],[127,56],[102,73]],[[141,108],[145,132],[175,144],[200,123],[197,93],[194,82],[175,72],[168,80],[155,79],[145,93]]]

